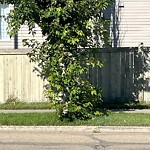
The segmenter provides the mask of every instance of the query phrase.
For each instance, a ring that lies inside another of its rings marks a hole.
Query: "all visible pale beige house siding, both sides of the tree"
[[[119,7],[122,2],[124,7]],[[111,35],[113,46],[137,47],[141,42],[150,46],[150,0],[116,0],[115,12],[111,13]],[[10,6],[13,9],[13,6]],[[29,35],[27,25],[18,32],[18,48],[23,49],[22,39],[37,39],[43,41],[41,30],[36,28],[36,35]],[[0,49],[14,49],[14,38],[0,41]]]

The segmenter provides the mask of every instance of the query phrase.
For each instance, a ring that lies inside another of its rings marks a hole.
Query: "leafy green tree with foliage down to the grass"
[[[36,34],[37,24],[45,36],[40,43],[24,39],[32,48],[29,54],[42,68],[41,75],[48,80],[46,95],[53,102],[60,118],[87,119],[100,114],[101,90],[92,85],[83,74],[89,67],[102,66],[96,59],[95,47],[107,46],[108,21],[103,17],[110,0],[0,0],[17,4],[7,17],[9,34],[13,36],[21,25]],[[99,37],[96,42],[94,37]]]

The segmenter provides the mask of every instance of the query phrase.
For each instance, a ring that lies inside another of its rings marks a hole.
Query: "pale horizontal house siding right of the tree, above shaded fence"
[[[150,0],[116,1],[118,47],[137,47],[141,42],[150,46]],[[118,15],[118,16],[117,16]]]

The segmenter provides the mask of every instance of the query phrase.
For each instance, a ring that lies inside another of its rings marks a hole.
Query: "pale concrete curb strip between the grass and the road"
[[[0,131],[50,131],[50,132],[148,132],[150,127],[141,126],[0,126]]]

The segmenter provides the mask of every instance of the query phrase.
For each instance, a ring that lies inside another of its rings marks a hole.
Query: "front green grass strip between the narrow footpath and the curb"
[[[87,121],[60,121],[55,113],[0,114],[0,125],[150,126],[150,114],[108,113]]]

